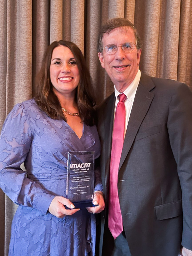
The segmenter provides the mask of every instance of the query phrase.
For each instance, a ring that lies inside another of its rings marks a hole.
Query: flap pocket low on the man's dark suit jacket
[[[182,199],[155,207],[157,220],[165,220],[182,214]]]

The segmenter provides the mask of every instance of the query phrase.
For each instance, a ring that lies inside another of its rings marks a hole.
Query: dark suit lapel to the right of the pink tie
[[[139,127],[151,105],[154,94],[151,93],[150,90],[152,90],[154,87],[155,85],[153,84],[151,78],[141,73],[140,83],[138,85],[137,92],[135,94],[131,115],[127,125],[123,150],[122,150],[121,159],[119,163],[119,170],[127,154],[129,153],[129,150],[139,130]]]

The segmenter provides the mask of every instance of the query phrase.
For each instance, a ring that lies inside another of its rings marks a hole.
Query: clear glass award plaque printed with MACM
[[[68,152],[67,198],[75,208],[92,207],[93,192],[94,151]]]

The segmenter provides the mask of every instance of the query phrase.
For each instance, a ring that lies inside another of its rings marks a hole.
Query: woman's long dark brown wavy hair
[[[51,118],[67,121],[67,118],[61,109],[60,102],[53,92],[49,71],[53,49],[60,45],[68,47],[75,57],[80,74],[80,81],[75,93],[75,101],[82,121],[85,124],[92,126],[94,124],[93,107],[96,104],[92,79],[82,52],[76,44],[72,42],[60,40],[54,41],[48,46],[44,54],[41,70],[36,77],[36,103],[39,108]]]

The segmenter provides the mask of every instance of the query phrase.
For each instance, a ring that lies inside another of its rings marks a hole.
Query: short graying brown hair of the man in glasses
[[[137,29],[133,26],[131,21],[124,19],[124,18],[114,18],[111,20],[108,20],[101,28],[100,30],[100,35],[99,35],[99,42],[98,42],[98,52],[103,51],[103,35],[105,33],[109,34],[111,30],[115,28],[124,28],[124,27],[129,27],[133,29],[134,35],[135,35],[135,43],[137,49],[141,49],[142,47],[142,42],[140,39],[140,36],[137,32]],[[126,43],[126,42],[125,42]]]

